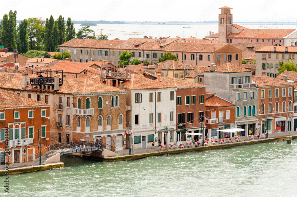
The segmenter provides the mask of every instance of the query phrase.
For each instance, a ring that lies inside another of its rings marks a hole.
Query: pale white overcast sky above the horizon
[[[3,0],[0,11],[2,16],[17,10],[18,20],[62,15],[65,20],[210,21],[218,20],[218,8],[223,6],[233,8],[234,21],[272,21],[277,14],[278,22],[290,17],[296,23],[293,0]]]

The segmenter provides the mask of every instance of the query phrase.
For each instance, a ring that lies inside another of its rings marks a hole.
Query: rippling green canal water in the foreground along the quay
[[[1,187],[0,196],[297,196],[297,140],[135,161],[61,161],[65,167],[10,175],[10,193]]]

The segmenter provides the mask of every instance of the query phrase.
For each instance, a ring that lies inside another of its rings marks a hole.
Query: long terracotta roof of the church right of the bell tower
[[[228,38],[284,38],[295,29],[244,29]]]

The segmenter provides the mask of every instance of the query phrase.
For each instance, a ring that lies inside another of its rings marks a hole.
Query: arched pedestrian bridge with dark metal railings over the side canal
[[[61,156],[67,153],[77,153],[77,152],[93,151],[93,150],[103,151],[103,149],[110,150],[114,153],[118,153],[118,148],[103,142],[96,143],[94,141],[52,144],[52,145],[49,145],[48,149],[49,151],[42,156],[43,163],[45,163],[48,159],[56,156],[57,154],[60,154]]]

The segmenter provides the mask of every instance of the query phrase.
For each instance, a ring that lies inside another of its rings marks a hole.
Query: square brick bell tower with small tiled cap
[[[219,14],[219,43],[226,43],[226,37],[232,33],[232,14],[230,7],[221,7],[221,14]]]

